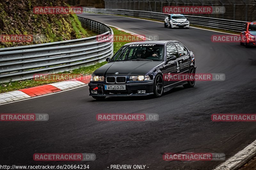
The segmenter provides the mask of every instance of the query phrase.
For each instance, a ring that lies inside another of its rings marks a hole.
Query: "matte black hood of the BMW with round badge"
[[[145,75],[152,68],[161,64],[163,61],[115,61],[109,62],[97,70],[95,75]],[[118,72],[118,74],[115,74]]]

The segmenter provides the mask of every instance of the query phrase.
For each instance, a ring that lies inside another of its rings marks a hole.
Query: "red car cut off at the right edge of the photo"
[[[246,48],[256,46],[256,21],[246,23],[240,36],[240,45],[244,45]]]

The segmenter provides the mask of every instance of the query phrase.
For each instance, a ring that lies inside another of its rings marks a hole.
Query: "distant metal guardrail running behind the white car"
[[[114,15],[126,15],[133,17],[151,18],[164,21],[164,18],[168,16],[165,13],[150,12],[150,11],[135,11],[135,10],[121,10],[121,9],[96,9],[96,8],[84,8],[84,11],[103,13],[103,14],[114,14]],[[200,16],[189,16],[185,15],[190,24],[207,26],[211,28],[218,28],[230,31],[241,31],[246,21],[236,21],[220,18],[209,18]]]

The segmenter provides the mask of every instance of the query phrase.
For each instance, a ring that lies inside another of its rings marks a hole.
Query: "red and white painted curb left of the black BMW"
[[[28,89],[20,89],[0,94],[0,104],[14,102],[17,100],[27,99],[36,96],[43,96],[59,91],[73,89],[89,83],[91,75],[71,79],[67,81],[60,81],[56,83],[46,84]]]

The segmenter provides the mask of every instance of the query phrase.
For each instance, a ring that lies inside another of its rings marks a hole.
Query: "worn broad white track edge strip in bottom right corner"
[[[250,145],[246,146],[243,150],[237,152],[231,158],[217,166],[214,170],[220,169],[238,169],[243,166],[249,159],[251,159],[256,153],[256,140]],[[225,167],[225,168],[224,168]]]

